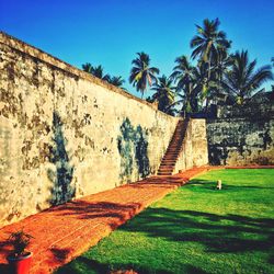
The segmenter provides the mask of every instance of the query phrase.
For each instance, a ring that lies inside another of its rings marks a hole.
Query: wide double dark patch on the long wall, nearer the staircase
[[[128,118],[121,125],[117,148],[121,155],[121,180],[130,181],[134,164],[137,164],[140,178],[149,174],[147,130],[140,125],[136,128]]]

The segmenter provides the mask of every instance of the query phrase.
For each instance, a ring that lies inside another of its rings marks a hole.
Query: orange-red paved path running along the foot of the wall
[[[52,273],[56,267],[95,246],[115,228],[193,176],[219,169],[195,168],[172,176],[153,176],[53,207],[0,229],[0,273],[7,272],[9,233],[24,229],[34,239],[31,274]]]

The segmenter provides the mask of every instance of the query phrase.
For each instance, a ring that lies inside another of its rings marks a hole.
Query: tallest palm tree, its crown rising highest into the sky
[[[218,31],[220,22],[218,19],[208,20],[205,19],[203,27],[196,25],[198,34],[191,41],[191,48],[194,48],[192,58],[198,57],[199,62],[207,62],[207,76],[205,79],[205,89],[208,90],[209,81],[212,81],[212,60],[217,55],[218,49],[227,50],[230,47],[231,42],[227,39],[226,33]],[[208,93],[208,91],[205,91]],[[208,101],[206,101],[207,105]]]

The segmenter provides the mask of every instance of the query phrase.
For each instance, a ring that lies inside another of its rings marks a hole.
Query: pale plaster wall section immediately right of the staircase
[[[208,163],[206,122],[191,118],[174,173]]]

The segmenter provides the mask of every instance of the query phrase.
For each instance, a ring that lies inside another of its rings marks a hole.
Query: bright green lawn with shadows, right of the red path
[[[224,189],[215,190],[222,180]],[[58,274],[274,273],[274,170],[201,175],[114,231]]]

